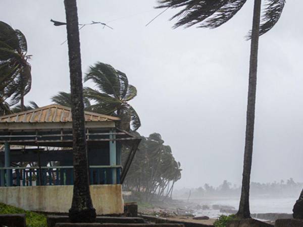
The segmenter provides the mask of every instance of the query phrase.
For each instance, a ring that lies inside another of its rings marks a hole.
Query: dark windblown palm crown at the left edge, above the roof
[[[27,42],[24,34],[0,21],[0,92],[1,102],[11,98],[10,105],[21,101],[31,89],[31,66],[28,63]]]

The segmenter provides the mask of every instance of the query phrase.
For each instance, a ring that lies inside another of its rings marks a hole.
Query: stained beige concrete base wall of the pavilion
[[[90,195],[96,213],[123,213],[121,185],[91,185]],[[73,186],[0,187],[0,202],[25,210],[68,213]]]

